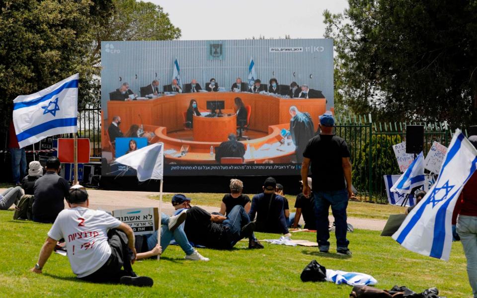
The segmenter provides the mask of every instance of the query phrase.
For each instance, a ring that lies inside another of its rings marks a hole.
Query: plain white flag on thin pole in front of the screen
[[[155,143],[144,148],[129,152],[116,158],[116,163],[132,167],[138,172],[140,182],[149,179],[162,179],[164,172],[163,156],[164,144]]]

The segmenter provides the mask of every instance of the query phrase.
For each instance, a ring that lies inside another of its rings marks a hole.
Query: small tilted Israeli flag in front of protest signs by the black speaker
[[[425,180],[424,155],[421,151],[396,183],[393,184],[391,191],[400,194],[410,194],[414,187],[424,185]]]

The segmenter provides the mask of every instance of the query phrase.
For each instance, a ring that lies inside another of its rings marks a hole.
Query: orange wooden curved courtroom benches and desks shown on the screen
[[[235,115],[219,118],[194,117],[194,141],[170,138],[167,133],[184,129],[182,114],[189,107],[191,99],[197,101],[201,111],[206,110],[207,101],[224,101],[224,111],[230,113],[235,110],[234,99],[236,97],[240,97],[245,106],[250,105],[251,107],[249,129],[268,134],[263,138],[241,141],[245,146],[249,145],[254,149],[260,148],[263,144],[273,144],[281,140],[281,129],[289,129],[290,126],[289,110],[291,106],[296,106],[299,111],[308,112],[312,116],[315,127],[318,124],[319,115],[326,111],[326,99],[324,98],[291,99],[265,94],[234,92],[182,93],[149,100],[108,101],[109,119],[103,120],[107,121],[103,127],[106,128],[111,123],[113,116],[120,116],[123,133],[132,124],[143,124],[145,131],[155,133],[156,136],[152,142],[163,142],[164,149],[179,150],[184,145],[189,147],[185,156],[165,155],[166,162],[213,163],[215,158],[210,154],[210,147],[218,147],[221,142],[227,140],[230,131],[235,131]],[[107,141],[103,140],[103,148],[106,147]],[[274,156],[273,162],[289,162],[290,155],[292,154],[286,153],[283,156]],[[259,163],[265,159],[254,158],[245,160],[245,162]]]

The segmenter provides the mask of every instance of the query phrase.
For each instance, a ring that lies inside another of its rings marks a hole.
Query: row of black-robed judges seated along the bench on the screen
[[[149,95],[158,96],[162,92],[176,92],[176,93],[193,93],[201,92],[203,89],[196,79],[191,80],[190,83],[181,86],[173,79],[170,84],[163,85],[162,91],[159,90],[159,80],[155,79],[151,84],[141,87],[140,96],[146,97]],[[205,83],[205,90],[209,92],[219,91],[219,84],[215,78],[211,78],[209,82]],[[251,87],[247,83],[242,82],[238,77],[235,83],[232,84],[230,91],[232,92],[251,92],[251,93],[273,93],[290,98],[324,98],[320,90],[310,89],[308,85],[298,85],[297,82],[291,82],[290,85],[280,85],[276,78],[271,78],[269,84],[262,84],[260,79],[256,79]],[[129,83],[123,83],[121,87],[109,93],[110,100],[127,100],[134,99],[138,96],[137,93],[129,88]]]

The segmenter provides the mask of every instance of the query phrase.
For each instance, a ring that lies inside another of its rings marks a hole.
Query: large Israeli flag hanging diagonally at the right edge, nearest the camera
[[[476,156],[477,149],[457,129],[436,183],[407,215],[393,239],[411,251],[449,260],[452,213],[462,188],[476,170]]]

